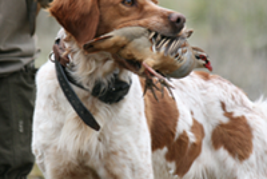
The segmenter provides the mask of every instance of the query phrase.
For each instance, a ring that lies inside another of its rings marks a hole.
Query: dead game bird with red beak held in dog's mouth
[[[195,68],[212,71],[205,51],[191,47],[187,41],[193,32],[193,29],[184,28],[177,36],[167,37],[140,26],[124,27],[90,40],[83,49],[88,53],[108,51],[113,54],[117,62],[146,78],[145,92],[150,89],[157,99],[154,88],[159,89],[153,77],[172,95],[169,78],[186,77]]]

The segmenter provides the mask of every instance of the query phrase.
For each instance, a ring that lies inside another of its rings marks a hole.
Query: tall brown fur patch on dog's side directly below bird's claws
[[[144,78],[140,78],[140,82],[144,88]],[[152,151],[163,149],[166,143],[172,143],[176,133],[178,108],[175,100],[168,95],[166,89],[164,90],[164,98],[156,91],[158,102],[151,91],[147,91],[144,96],[145,114],[152,136]]]

